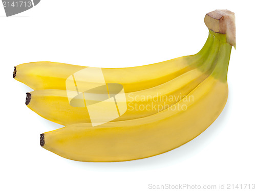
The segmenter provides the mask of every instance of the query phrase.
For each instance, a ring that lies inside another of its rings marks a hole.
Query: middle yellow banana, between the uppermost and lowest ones
[[[214,36],[212,31],[209,31],[209,39],[206,43],[209,41],[213,42],[209,49],[208,55],[210,56],[202,57],[203,61],[200,63],[203,62],[203,64],[201,66],[158,86],[125,93],[126,99],[119,100],[119,103],[123,102],[121,104],[127,105],[127,110],[113,121],[132,120],[153,115],[187,96],[211,74],[217,62],[216,56],[219,53],[220,40]],[[97,102],[97,98],[97,96],[93,96],[89,102]],[[80,102],[84,102],[83,97],[78,99],[81,99]],[[52,122],[61,125],[91,123],[87,107],[71,106],[66,90],[35,90],[27,93],[26,100],[26,104],[31,110]],[[94,122],[105,122],[106,119],[103,117],[99,116]]]

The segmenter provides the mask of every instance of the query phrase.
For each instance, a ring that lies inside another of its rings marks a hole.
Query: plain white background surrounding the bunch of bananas
[[[11,17],[1,6],[0,190],[141,191],[153,190],[148,184],[256,183],[253,3],[41,0]],[[236,14],[237,50],[231,53],[226,107],[200,136],[158,156],[114,163],[72,161],[40,147],[40,133],[62,126],[26,107],[31,89],[12,78],[13,66],[56,61],[129,67],[195,54],[208,36],[204,16],[215,9]]]

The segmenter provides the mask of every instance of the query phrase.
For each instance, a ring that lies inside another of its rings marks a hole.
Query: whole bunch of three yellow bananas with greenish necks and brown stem
[[[228,63],[236,46],[232,12],[216,10],[204,20],[208,39],[195,55],[128,68],[90,69],[56,62],[16,66],[14,79],[34,89],[27,93],[26,105],[65,125],[41,134],[40,145],[72,160],[112,162],[158,155],[201,134],[226,104]],[[94,73],[78,78],[84,69],[100,69],[103,82]],[[68,88],[69,78],[73,89]],[[86,84],[83,90],[78,90],[79,83]],[[118,115],[108,120],[104,113],[113,114],[112,98]],[[105,104],[95,106],[100,103]]]

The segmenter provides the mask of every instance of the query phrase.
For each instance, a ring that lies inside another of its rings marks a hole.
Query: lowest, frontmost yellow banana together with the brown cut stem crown
[[[205,22],[220,41],[217,63],[212,73],[185,98],[163,111],[134,120],[109,122],[97,127],[90,123],[72,124],[46,132],[40,136],[40,145],[71,160],[112,162],[158,155],[201,134],[226,104],[227,70],[231,47],[236,42],[232,35],[235,29],[232,12],[208,13]],[[218,33],[219,29],[224,34]]]

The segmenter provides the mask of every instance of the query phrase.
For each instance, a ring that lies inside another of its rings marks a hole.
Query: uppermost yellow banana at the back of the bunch
[[[199,67],[204,63],[203,58],[208,55],[212,43],[212,38],[209,36],[202,50],[195,55],[150,65],[127,68],[101,68],[101,70],[105,83],[121,84],[125,92],[140,91],[165,83]],[[58,62],[31,62],[15,66],[13,78],[34,90],[66,90],[67,78],[84,68],[87,67]]]

